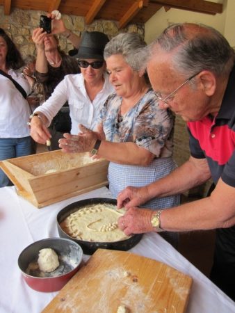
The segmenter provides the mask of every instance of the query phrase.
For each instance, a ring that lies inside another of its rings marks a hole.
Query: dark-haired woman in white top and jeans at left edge
[[[23,65],[14,42],[0,29],[0,160],[31,154],[31,137],[26,125],[31,113],[26,96],[31,88],[19,71]],[[0,187],[9,185],[10,180],[0,170]]]

